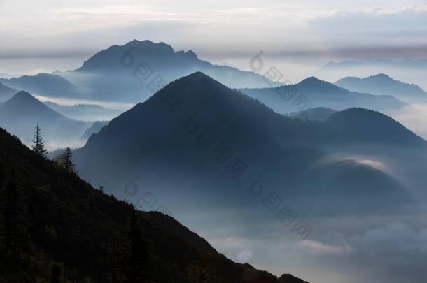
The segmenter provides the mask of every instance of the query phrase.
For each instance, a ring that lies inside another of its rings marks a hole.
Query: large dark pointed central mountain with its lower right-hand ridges
[[[248,203],[235,187],[262,175],[264,187],[302,203],[304,197],[321,196],[328,203],[325,196],[333,194],[337,203],[329,203],[330,209],[343,213],[357,210],[365,199],[370,212],[409,203],[405,189],[386,173],[369,166],[361,170],[357,161],[322,161],[331,148],[361,144],[426,148],[422,138],[381,113],[353,108],[325,122],[293,119],[197,72],[113,119],[76,150],[75,159],[85,179],[120,187],[111,191],[121,197],[138,176],[142,186],[165,197],[179,190],[195,199],[209,196],[211,203],[225,199],[221,205]],[[243,172],[237,168],[242,163]],[[337,166],[336,174],[324,170]]]

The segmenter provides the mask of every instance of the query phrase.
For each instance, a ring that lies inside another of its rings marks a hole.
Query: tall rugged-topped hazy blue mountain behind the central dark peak
[[[275,85],[257,73],[203,61],[195,52],[176,52],[166,43],[130,41],[97,52],[75,71],[57,73],[97,101],[145,101],[167,83],[195,71],[230,87]]]

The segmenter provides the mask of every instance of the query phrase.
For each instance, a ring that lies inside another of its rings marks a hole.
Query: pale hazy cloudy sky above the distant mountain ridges
[[[213,61],[258,50],[294,59],[427,57],[426,0],[205,2],[0,0],[0,73],[76,68],[134,38]]]

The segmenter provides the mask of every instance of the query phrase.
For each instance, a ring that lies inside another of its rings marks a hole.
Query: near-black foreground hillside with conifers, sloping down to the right
[[[0,129],[0,282],[285,282],[93,189]]]

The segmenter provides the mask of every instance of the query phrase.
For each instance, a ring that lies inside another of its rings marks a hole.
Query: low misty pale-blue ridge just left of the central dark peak
[[[45,105],[49,106],[49,108],[52,108],[58,113],[69,117],[70,119],[76,119],[80,121],[110,120],[123,113],[122,110],[109,109],[92,104],[77,104],[73,106],[64,106],[50,101],[46,101]]]

